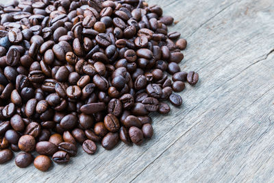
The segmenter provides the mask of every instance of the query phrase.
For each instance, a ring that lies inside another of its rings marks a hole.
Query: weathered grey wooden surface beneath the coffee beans
[[[274,3],[157,1],[188,40],[184,71],[198,71],[182,108],[154,116],[142,146],[120,143],[42,173],[1,165],[0,182],[273,182]]]

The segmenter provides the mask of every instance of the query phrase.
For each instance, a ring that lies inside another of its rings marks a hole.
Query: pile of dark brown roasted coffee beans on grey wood
[[[47,171],[97,145],[141,145],[150,112],[182,105],[199,75],[181,71],[187,42],[142,0],[40,0],[0,5],[0,164]],[[39,156],[34,159],[36,151]]]

